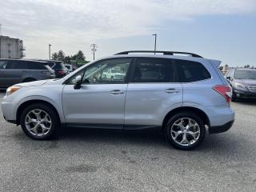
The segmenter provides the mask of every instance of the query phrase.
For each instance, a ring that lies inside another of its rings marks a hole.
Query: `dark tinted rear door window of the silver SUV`
[[[170,59],[138,58],[132,82],[175,82]]]

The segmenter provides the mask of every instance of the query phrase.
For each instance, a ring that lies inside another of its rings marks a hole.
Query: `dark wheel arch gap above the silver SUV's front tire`
[[[22,104],[20,106],[18,106],[18,110],[17,110],[17,113],[16,113],[16,124],[17,125],[20,125],[20,118],[21,118],[21,114],[22,114],[22,111],[26,109],[27,106],[30,106],[32,104],[35,104],[35,103],[43,103],[47,106],[50,106],[55,112],[56,114],[58,114],[58,121],[61,122],[61,118],[60,118],[60,115],[58,113],[58,110],[55,108],[54,105],[52,105],[50,102],[46,102],[44,100],[40,100],[40,99],[33,99],[33,100],[29,100],[29,101],[26,101],[26,102],[22,102]]]

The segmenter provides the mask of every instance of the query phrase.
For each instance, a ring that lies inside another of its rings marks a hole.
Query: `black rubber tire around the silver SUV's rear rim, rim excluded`
[[[178,118],[192,118],[194,119],[194,121],[198,123],[199,129],[200,129],[200,136],[198,138],[198,141],[194,142],[193,145],[190,145],[190,146],[178,145],[178,143],[175,142],[174,139],[171,137],[171,134],[170,134],[171,126],[174,124],[175,121],[178,120]],[[192,150],[196,146],[198,146],[200,143],[202,143],[202,141],[204,140],[206,136],[206,128],[204,123],[202,122],[202,119],[197,114],[190,113],[190,112],[183,112],[183,113],[175,114],[169,119],[165,127],[165,136],[168,142],[170,142],[170,144],[175,148],[179,150]]]

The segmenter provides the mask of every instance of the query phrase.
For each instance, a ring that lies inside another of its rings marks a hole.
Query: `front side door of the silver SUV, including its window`
[[[96,62],[78,72],[66,83],[62,94],[66,124],[70,126],[122,129],[126,98],[126,74],[131,58]],[[114,69],[115,73],[110,73]],[[81,89],[74,79],[82,75]]]

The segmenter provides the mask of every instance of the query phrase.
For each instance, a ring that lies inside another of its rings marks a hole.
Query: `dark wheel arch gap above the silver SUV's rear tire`
[[[210,126],[210,120],[207,114],[203,110],[200,110],[193,106],[181,106],[181,107],[175,108],[174,110],[170,110],[168,114],[166,114],[162,122],[162,129],[166,126],[166,123],[168,122],[168,119],[170,119],[170,117],[174,116],[174,114],[178,114],[182,112],[192,112],[194,114],[198,114],[198,116],[202,118],[202,122],[204,123],[204,125]]]

